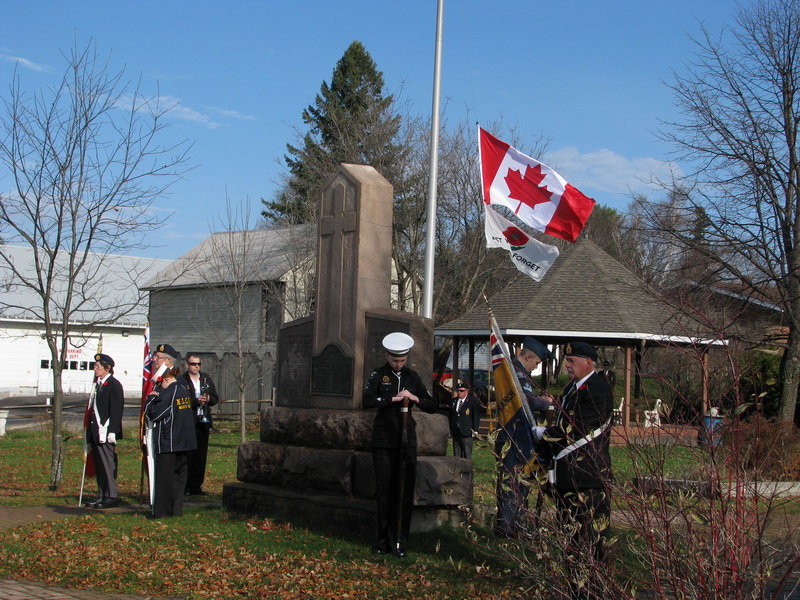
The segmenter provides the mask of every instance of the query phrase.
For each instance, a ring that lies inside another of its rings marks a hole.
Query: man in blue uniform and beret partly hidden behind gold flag
[[[542,362],[549,360],[550,356],[551,353],[547,346],[535,338],[526,337],[522,340],[522,348],[520,348],[519,353],[511,361],[514,366],[514,374],[517,376],[522,393],[525,395],[521,400],[528,403],[530,407],[529,413],[534,419],[530,423],[531,427],[538,424],[536,412],[546,412],[550,408],[553,397],[547,391],[541,391],[537,394],[530,374]],[[517,425],[517,423],[515,422],[514,425]],[[513,431],[505,431],[505,429],[501,428],[495,442],[496,453],[499,455],[501,453],[500,449],[503,448],[506,441],[513,439]],[[519,536],[526,529],[525,523],[528,515],[528,493],[530,487],[520,482],[518,477],[513,476],[513,473],[515,473],[516,467],[526,464],[531,457],[521,456],[521,454],[521,448],[513,448],[512,451],[505,453],[503,456],[504,476],[498,480],[497,521],[494,526],[494,532],[504,537]]]

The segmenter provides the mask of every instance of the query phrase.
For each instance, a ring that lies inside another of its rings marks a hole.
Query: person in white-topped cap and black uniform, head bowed
[[[364,408],[378,409],[372,429],[378,542],[372,552],[392,552],[400,558],[406,556],[417,476],[416,423],[411,408],[416,405],[425,412],[436,411],[436,402],[422,379],[406,366],[413,346],[413,338],[405,333],[384,337],[386,364],[369,376],[362,397]]]

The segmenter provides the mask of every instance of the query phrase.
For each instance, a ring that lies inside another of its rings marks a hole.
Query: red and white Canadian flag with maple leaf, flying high
[[[536,231],[574,242],[595,201],[546,164],[478,130],[483,201],[509,208]]]

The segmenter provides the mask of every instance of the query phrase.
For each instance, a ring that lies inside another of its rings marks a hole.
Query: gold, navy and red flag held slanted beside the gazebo
[[[522,472],[529,472],[536,463],[531,432],[532,421],[527,415],[530,409],[525,410],[528,408],[525,404],[527,400],[520,389],[511,357],[491,312],[489,319],[491,321],[489,346],[497,422],[503,433],[500,438],[503,447],[499,448],[502,454],[501,460],[509,471],[520,469]]]

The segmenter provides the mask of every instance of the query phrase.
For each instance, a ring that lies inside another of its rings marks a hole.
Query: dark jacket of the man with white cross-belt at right
[[[614,410],[611,388],[605,378],[593,373],[577,390],[564,389],[555,423],[544,430],[537,451],[552,458],[609,422]],[[600,435],[556,461],[556,489],[600,488],[611,478],[610,427]]]

